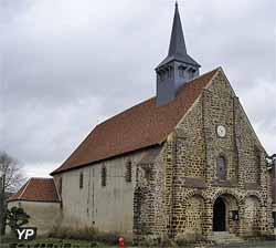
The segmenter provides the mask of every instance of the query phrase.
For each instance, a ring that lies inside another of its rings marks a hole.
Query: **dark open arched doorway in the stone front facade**
[[[219,197],[213,207],[213,231],[226,230],[226,206],[222,197]]]

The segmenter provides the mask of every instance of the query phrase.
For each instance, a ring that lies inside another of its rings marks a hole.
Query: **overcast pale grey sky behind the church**
[[[0,149],[46,176],[97,124],[155,94],[172,0],[0,0]],[[188,52],[222,66],[276,153],[274,0],[179,1]]]

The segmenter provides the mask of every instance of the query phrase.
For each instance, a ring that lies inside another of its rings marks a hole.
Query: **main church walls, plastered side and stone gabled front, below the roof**
[[[225,127],[225,137],[217,136],[217,125]],[[62,225],[119,230],[135,242],[200,239],[213,234],[214,204],[220,198],[227,231],[270,234],[266,153],[222,71],[159,148],[148,161],[144,157],[151,149],[61,175]],[[225,178],[217,174],[219,156],[226,162]],[[124,176],[129,161],[131,183]],[[106,187],[100,186],[103,166],[107,168]],[[233,219],[236,211],[238,219]]]

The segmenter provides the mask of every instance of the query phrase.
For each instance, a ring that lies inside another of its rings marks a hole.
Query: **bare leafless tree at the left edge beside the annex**
[[[0,235],[4,234],[7,197],[10,193],[17,192],[23,182],[23,172],[19,162],[0,151]]]

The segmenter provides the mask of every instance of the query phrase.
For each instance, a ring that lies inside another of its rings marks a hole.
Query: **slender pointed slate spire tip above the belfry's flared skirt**
[[[184,35],[178,10],[178,2],[176,2],[174,18],[172,23],[171,40],[170,40],[170,48],[168,55],[172,56],[174,54],[181,54],[181,55],[187,54]]]

